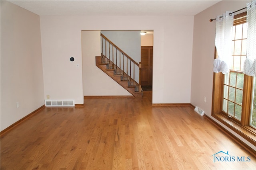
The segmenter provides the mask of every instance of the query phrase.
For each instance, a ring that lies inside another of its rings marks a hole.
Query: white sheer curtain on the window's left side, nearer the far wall
[[[213,62],[213,72],[229,72],[231,60],[232,45],[232,27],[234,23],[234,14],[229,15],[230,11],[216,17],[215,47],[218,58]]]

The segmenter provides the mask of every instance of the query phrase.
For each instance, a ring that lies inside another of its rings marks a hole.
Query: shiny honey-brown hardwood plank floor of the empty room
[[[255,170],[256,159],[193,107],[152,107],[145,94],[42,109],[1,138],[1,170],[18,169]]]

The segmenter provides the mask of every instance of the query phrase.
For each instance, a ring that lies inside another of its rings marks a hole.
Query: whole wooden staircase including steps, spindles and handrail
[[[135,98],[141,98],[143,95],[140,85],[141,64],[136,63],[102,33],[100,37],[101,56],[96,56],[96,66]]]

